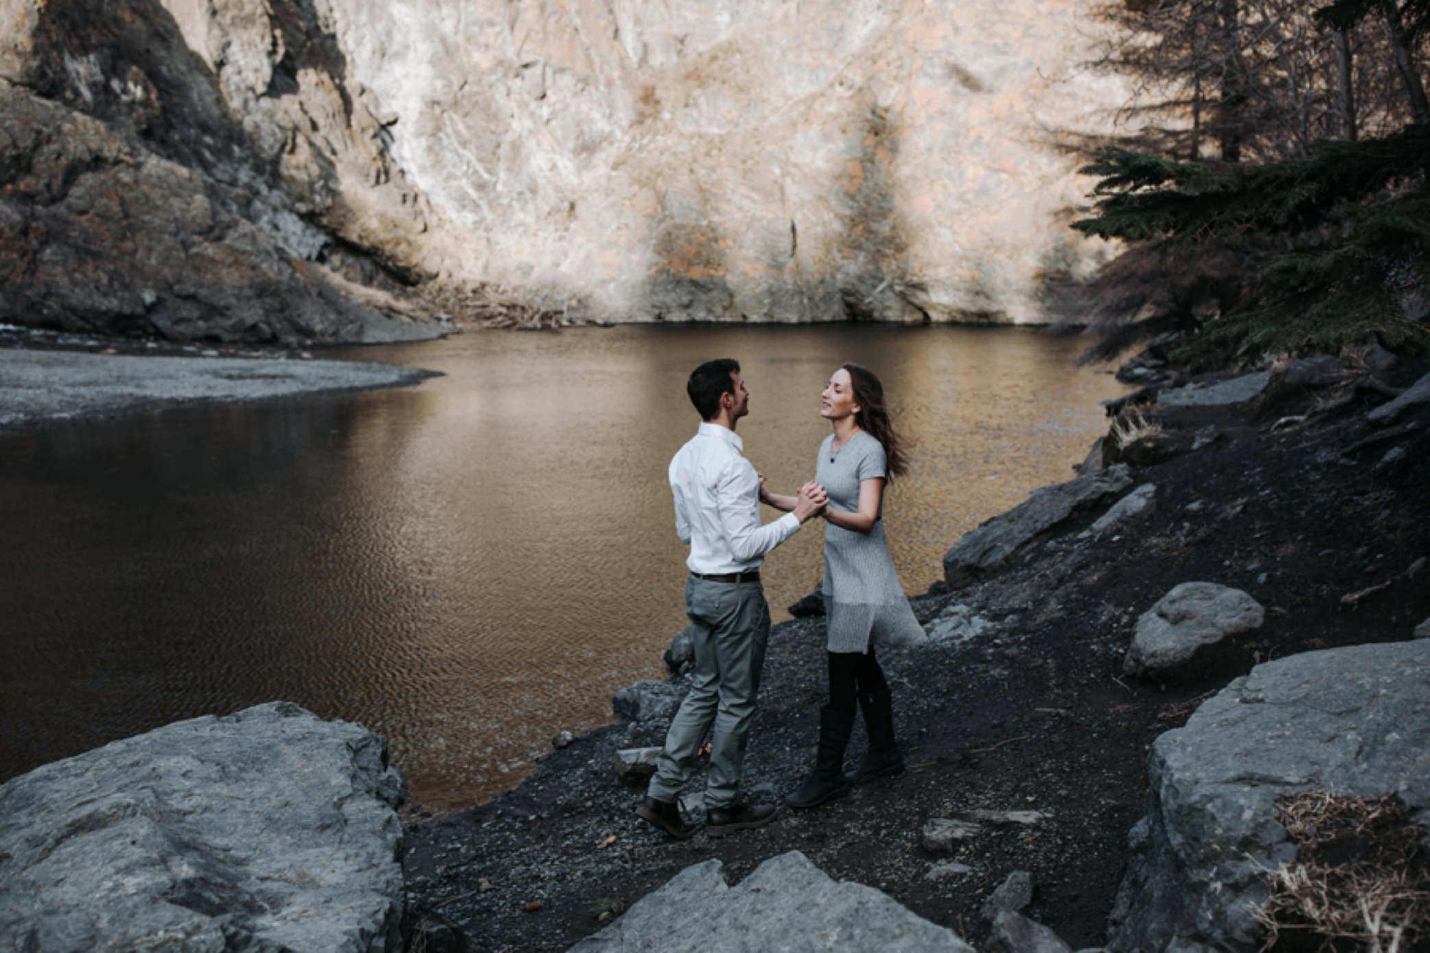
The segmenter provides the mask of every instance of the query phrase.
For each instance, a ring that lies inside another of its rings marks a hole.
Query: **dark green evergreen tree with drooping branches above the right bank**
[[[1419,120],[1424,91],[1411,53],[1430,34],[1430,0],[1337,0],[1314,14],[1327,34],[1340,36],[1370,17],[1381,21],[1407,111]],[[1340,94],[1344,104],[1344,89]],[[1341,129],[1354,129],[1353,113],[1341,119]],[[1234,159],[1227,141],[1221,156]],[[1095,214],[1074,227],[1127,241],[1118,263],[1130,259],[1137,271],[1154,270],[1155,259],[1167,271],[1231,279],[1216,291],[1220,314],[1204,326],[1185,307],[1164,309],[1183,327],[1200,329],[1177,354],[1194,366],[1246,351],[1374,341],[1421,350],[1430,346],[1420,321],[1430,293],[1427,163],[1427,121],[1369,139],[1323,139],[1260,164],[1111,149],[1084,169],[1101,179]],[[1228,257],[1246,267],[1227,267]],[[1205,291],[1205,281],[1184,284]]]

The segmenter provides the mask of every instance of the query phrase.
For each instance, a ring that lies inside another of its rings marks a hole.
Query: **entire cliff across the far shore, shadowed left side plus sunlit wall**
[[[0,104],[173,176],[169,219],[206,204],[223,224],[163,231],[243,231],[263,253],[235,250],[223,284],[296,311],[146,283],[133,216],[72,197],[123,194],[113,176],[87,159],[36,176],[54,163],[10,137],[0,243],[20,264],[0,270],[0,320],[173,336],[154,296],[226,309],[219,336],[350,337],[372,326],[345,314],[353,280],[489,281],[618,320],[1040,320],[1047,283],[1097,257],[1062,227],[1087,183],[1042,143],[1123,93],[1077,67],[1088,6],[0,0]]]

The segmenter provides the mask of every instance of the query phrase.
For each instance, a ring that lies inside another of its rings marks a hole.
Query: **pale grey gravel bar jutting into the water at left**
[[[0,431],[194,403],[408,387],[436,371],[300,356],[0,349]]]

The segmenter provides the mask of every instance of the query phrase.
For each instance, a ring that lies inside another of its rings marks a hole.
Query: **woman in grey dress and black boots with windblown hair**
[[[874,656],[875,644],[909,644],[925,639],[908,606],[884,540],[885,483],[908,470],[904,446],[884,406],[884,386],[859,364],[834,371],[821,394],[819,413],[834,433],[819,444],[814,484],[824,489],[824,606],[828,619],[829,703],[819,709],[819,749],[814,772],[785,799],[791,807],[814,807],[849,792],[851,784],[904,770],[894,742],[888,683]],[[792,510],[797,497],[768,493],[761,499]],[[851,776],[844,774],[844,749],[854,730],[855,709],[864,710],[869,750]]]

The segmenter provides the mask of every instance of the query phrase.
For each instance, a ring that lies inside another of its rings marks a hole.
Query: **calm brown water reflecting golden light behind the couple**
[[[385,733],[419,802],[482,800],[662,676],[685,574],[665,467],[698,423],[695,364],[744,364],[739,433],[782,492],[814,474],[834,367],[881,373],[918,441],[885,503],[915,593],[1105,429],[1097,401],[1121,389],[1074,370],[1078,347],[957,327],[473,333],[349,354],[448,374],[416,389],[0,439],[0,780],[287,699]],[[805,530],[766,562],[776,619],[819,547]]]

